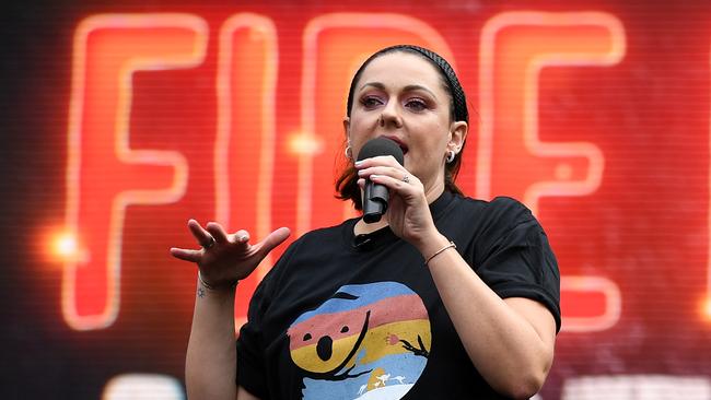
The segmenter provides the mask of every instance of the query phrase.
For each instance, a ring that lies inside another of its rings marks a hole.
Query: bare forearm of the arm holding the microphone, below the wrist
[[[448,240],[436,235],[420,246],[424,257]],[[479,279],[454,249],[428,262],[442,302],[481,376],[511,397],[535,393],[552,362],[552,343]]]

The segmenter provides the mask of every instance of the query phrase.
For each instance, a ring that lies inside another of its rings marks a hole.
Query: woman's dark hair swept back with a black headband
[[[350,90],[348,91],[348,103],[346,105],[347,116],[350,117],[351,108],[353,107],[353,92],[356,91],[356,84],[360,80],[360,77],[363,73],[365,67],[368,67],[371,61],[381,56],[397,51],[410,52],[420,56],[421,58],[429,61],[432,66],[434,66],[434,68],[440,71],[440,77],[444,83],[444,90],[452,99],[450,103],[450,116],[452,120],[455,122],[469,122],[469,111],[467,110],[466,95],[464,94],[462,84],[459,84],[459,80],[457,79],[454,69],[452,69],[452,66],[450,66],[450,63],[436,52],[415,45],[397,45],[386,47],[374,52],[361,64],[358,71],[356,71],[353,80],[350,83]],[[445,189],[458,195],[462,195],[462,190],[454,184],[454,180],[456,179],[459,167],[462,166],[463,151],[464,143],[462,144],[461,151],[454,156],[454,161],[452,163],[447,163],[444,168]],[[352,164],[348,165],[346,170],[343,170],[341,176],[336,180],[336,190],[338,191],[337,198],[341,200],[351,200],[356,207],[356,210],[362,210],[363,203],[361,199],[360,188],[358,187],[357,183],[358,174],[356,172],[356,168]]]

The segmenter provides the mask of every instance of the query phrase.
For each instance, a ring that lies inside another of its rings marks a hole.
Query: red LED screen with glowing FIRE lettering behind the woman
[[[711,4],[4,8],[3,398],[182,385],[196,271],[167,249],[193,246],[189,217],[291,242],[351,215],[333,197],[348,79],[397,42],[459,73],[465,191],[525,201],[556,250],[563,331],[540,398],[711,398]]]

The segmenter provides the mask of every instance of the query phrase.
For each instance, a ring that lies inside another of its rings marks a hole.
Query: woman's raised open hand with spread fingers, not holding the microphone
[[[248,232],[228,234],[215,222],[209,222],[203,228],[197,221],[189,220],[188,228],[201,248],[196,250],[172,247],[171,255],[197,263],[201,279],[214,289],[230,287],[248,277],[267,254],[290,234],[289,228],[280,227],[261,242],[250,245]]]

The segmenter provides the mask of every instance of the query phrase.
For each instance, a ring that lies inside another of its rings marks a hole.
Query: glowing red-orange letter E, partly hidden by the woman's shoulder
[[[605,156],[593,143],[539,139],[538,78],[546,67],[611,66],[623,55],[625,31],[609,14],[509,12],[489,20],[480,47],[477,197],[509,193],[536,213],[544,196],[593,193]],[[567,330],[607,329],[619,319],[621,296],[610,280],[561,277],[561,291],[574,307]]]

